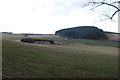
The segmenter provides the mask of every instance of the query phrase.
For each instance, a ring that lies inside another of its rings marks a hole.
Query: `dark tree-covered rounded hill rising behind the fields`
[[[55,35],[76,39],[107,40],[103,30],[94,26],[80,26],[74,28],[61,29]]]

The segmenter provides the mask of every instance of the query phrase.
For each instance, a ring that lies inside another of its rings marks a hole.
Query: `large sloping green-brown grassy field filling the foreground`
[[[29,44],[18,41],[23,38],[21,35],[7,36],[3,35],[2,42],[3,77],[118,77],[118,48],[115,46],[78,44],[75,40],[78,45]]]

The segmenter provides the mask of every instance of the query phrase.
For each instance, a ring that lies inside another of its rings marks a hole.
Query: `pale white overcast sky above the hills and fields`
[[[56,30],[77,26],[118,32],[118,22],[96,22],[104,18],[99,14],[101,9],[91,12],[81,8],[83,1],[0,0],[0,32],[54,34]],[[114,18],[117,21],[117,15]]]

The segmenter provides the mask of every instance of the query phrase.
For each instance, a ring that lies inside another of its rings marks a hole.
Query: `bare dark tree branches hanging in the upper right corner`
[[[106,18],[103,19],[103,20],[107,20],[107,19],[110,19],[113,21],[113,17],[118,13],[120,12],[120,1],[118,0],[102,0],[102,1],[97,1],[97,0],[93,0],[93,1],[88,1],[87,4],[85,4],[84,6],[91,6],[92,8],[90,10],[95,10],[97,9],[98,7],[102,7],[104,8],[103,6],[106,5],[107,7],[110,7],[111,10],[112,10],[112,14],[109,14],[108,12],[107,13],[104,13],[102,14],[103,16],[105,16]],[[101,21],[103,21],[101,20]]]

